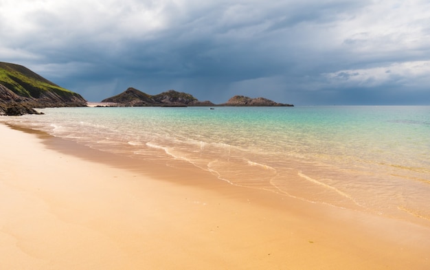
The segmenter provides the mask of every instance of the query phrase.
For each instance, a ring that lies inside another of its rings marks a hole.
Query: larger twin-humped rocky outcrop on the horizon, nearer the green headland
[[[133,87],[102,100],[117,106],[214,106],[210,101],[200,102],[189,93],[169,90],[158,95],[148,95]]]

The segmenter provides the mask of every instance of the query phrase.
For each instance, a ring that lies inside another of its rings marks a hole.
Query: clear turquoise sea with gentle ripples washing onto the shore
[[[40,111],[0,122],[142,162],[178,159],[231,185],[430,225],[430,106]]]

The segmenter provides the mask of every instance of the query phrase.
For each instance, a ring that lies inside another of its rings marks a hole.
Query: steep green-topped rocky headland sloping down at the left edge
[[[87,106],[87,101],[27,67],[0,62],[0,114],[36,113],[33,108]]]

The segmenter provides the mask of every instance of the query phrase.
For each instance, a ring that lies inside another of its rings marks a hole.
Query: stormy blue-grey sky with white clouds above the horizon
[[[0,0],[0,61],[89,101],[430,104],[430,1]]]

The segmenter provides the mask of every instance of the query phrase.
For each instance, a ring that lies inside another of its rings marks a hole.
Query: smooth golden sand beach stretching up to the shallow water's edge
[[[181,161],[0,134],[0,269],[430,266],[428,227],[236,187]]]

